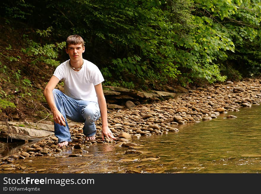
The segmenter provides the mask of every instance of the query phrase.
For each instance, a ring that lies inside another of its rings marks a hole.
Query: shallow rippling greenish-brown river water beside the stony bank
[[[232,114],[237,118],[225,118]],[[128,148],[93,145],[82,157],[79,150],[16,160],[2,173],[260,173],[261,106],[221,114],[211,121],[175,125],[178,133],[133,139],[143,154],[125,154]],[[146,158],[150,158],[146,159]],[[153,160],[153,161],[151,161]]]

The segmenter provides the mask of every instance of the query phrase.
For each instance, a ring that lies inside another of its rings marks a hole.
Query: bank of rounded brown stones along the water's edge
[[[17,159],[54,155],[68,149],[80,149],[80,153],[88,152],[90,146],[98,143],[113,144],[122,147],[125,153],[142,154],[136,149],[139,144],[132,139],[138,136],[177,133],[175,127],[188,122],[198,123],[217,118],[220,113],[227,113],[226,118],[234,118],[233,111],[241,107],[251,107],[261,102],[261,84],[259,79],[247,79],[241,82],[215,84],[208,88],[188,90],[188,93],[176,95],[174,98],[153,104],[139,104],[129,109],[114,109],[108,113],[109,128],[115,141],[101,140],[101,118],[96,121],[96,140],[86,141],[82,133],[82,124],[70,127],[72,142],[68,146],[58,147],[58,139],[54,135],[29,146],[24,146],[16,154],[1,159],[1,165],[15,163]],[[82,156],[71,154],[69,156]]]

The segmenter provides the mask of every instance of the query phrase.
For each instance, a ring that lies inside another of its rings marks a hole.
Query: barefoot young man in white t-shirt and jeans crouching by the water
[[[66,40],[66,53],[70,59],[61,63],[54,71],[44,89],[44,97],[52,110],[55,136],[62,147],[71,141],[66,117],[71,121],[84,123],[86,140],[95,140],[95,121],[102,121],[102,140],[114,138],[108,127],[107,105],[101,83],[104,78],[96,65],[82,58],[84,41],[79,35]],[[63,79],[64,94],[55,89]]]

